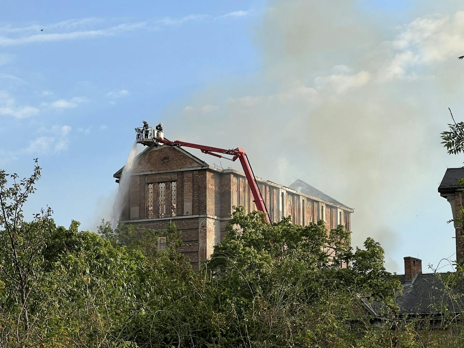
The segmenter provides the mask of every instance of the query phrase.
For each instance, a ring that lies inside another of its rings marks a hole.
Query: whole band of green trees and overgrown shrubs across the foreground
[[[0,171],[1,347],[460,347],[456,320],[453,335],[401,319],[374,327],[366,304],[389,316],[400,284],[380,245],[352,250],[342,226],[271,226],[238,207],[196,273],[174,224],[93,233],[56,226],[49,208],[26,222],[39,177],[38,165],[19,181]]]

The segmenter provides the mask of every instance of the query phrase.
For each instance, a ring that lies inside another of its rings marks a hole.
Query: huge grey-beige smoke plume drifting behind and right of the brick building
[[[271,2],[253,29],[262,71],[173,106],[182,122],[167,122],[167,136],[245,148],[258,176],[302,179],[354,207],[353,244],[380,241],[390,271],[410,254],[437,264],[454,252],[437,187],[462,160],[445,155],[439,132],[448,106],[464,114],[464,12],[421,8],[387,25],[360,4]]]

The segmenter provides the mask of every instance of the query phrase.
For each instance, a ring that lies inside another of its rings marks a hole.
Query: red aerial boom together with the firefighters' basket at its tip
[[[142,129],[137,130],[137,128],[135,130],[138,132],[138,134],[142,132],[147,132],[146,130],[142,130]],[[256,177],[253,173],[253,169],[251,168],[250,161],[248,161],[248,157],[243,148],[233,148],[233,149],[227,150],[225,148],[213,148],[211,146],[193,144],[191,142],[181,142],[179,140],[171,142],[171,141],[168,141],[167,139],[164,139],[163,131],[162,131],[162,123],[160,123],[156,127],[156,130],[157,132],[155,135],[154,134],[155,132],[152,131],[151,128],[148,128],[148,133],[142,134],[141,136],[139,135],[137,136],[137,140],[138,140],[137,142],[142,143],[143,145],[149,145],[149,146],[159,146],[159,145],[164,144],[164,145],[169,145],[169,146],[179,146],[179,147],[184,146],[187,148],[198,148],[204,154],[213,155],[219,158],[225,158],[230,161],[236,161],[237,159],[239,159],[242,165],[243,171],[245,172],[248,185],[250,185],[251,193],[253,194],[253,202],[255,203],[256,208],[260,212],[264,213],[264,215],[266,216],[267,222],[271,223],[271,219],[269,218],[269,213],[267,211],[266,204],[264,203],[264,200],[263,200],[263,195],[261,194],[261,191],[259,190],[258,182],[256,181]],[[146,138],[143,138],[144,135],[146,136]],[[223,155],[232,155],[232,158],[224,157]]]

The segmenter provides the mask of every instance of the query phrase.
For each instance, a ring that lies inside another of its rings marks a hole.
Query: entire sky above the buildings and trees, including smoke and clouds
[[[437,187],[463,158],[438,133],[447,107],[464,107],[459,6],[337,4],[2,3],[0,168],[43,168],[26,217],[45,205],[64,226],[108,217],[147,119],[170,139],[248,149],[258,176],[354,207],[354,243],[380,240],[389,271],[452,258]]]

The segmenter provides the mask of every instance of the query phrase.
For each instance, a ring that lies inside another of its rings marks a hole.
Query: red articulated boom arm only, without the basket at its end
[[[191,142],[181,142],[179,140],[176,140],[175,142],[170,142],[166,139],[156,139],[156,141],[171,146],[185,146],[187,148],[198,148],[204,154],[213,155],[219,158],[226,158],[227,160],[231,161],[239,159],[240,163],[242,164],[243,171],[245,172],[246,180],[248,180],[248,185],[250,185],[251,193],[253,194],[253,202],[255,202],[257,209],[260,212],[264,213],[267,222],[271,223],[269,213],[267,212],[266,204],[264,203],[263,196],[261,194],[261,191],[259,190],[255,175],[253,174],[253,169],[251,169],[250,161],[248,161],[248,157],[246,156],[245,151],[242,148],[226,150],[225,148],[213,148],[211,146],[198,145],[193,144]],[[233,157],[227,158],[219,154],[232,155]]]

